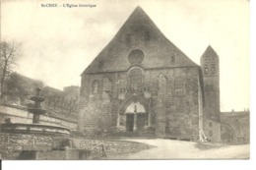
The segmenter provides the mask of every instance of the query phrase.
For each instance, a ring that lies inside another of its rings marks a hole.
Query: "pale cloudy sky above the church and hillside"
[[[58,7],[41,7],[57,3]],[[94,8],[60,7],[93,4]],[[59,89],[80,75],[137,6],[195,63],[211,45],[220,57],[221,110],[250,102],[248,0],[2,0],[1,39],[22,42],[15,71]]]

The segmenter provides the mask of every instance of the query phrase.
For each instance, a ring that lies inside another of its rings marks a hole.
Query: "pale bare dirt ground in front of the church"
[[[181,142],[171,140],[127,140],[156,147],[108,159],[248,159],[250,144],[225,145],[214,142]]]

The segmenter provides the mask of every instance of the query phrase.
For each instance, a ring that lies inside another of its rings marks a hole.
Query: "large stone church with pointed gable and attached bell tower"
[[[219,142],[219,74],[211,46],[197,65],[137,7],[81,75],[79,131]]]

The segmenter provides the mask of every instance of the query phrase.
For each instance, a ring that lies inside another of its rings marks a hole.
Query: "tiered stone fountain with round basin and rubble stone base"
[[[31,97],[34,104],[28,108],[32,113],[32,124],[12,123],[8,118],[0,125],[1,137],[7,139],[4,144],[19,148],[12,150],[14,153],[19,152],[16,159],[88,159],[91,150],[74,148],[70,139],[70,129],[40,124],[40,115],[46,113],[40,105],[44,101],[40,96],[40,90],[36,88],[36,95]],[[9,154],[10,150],[6,152]]]

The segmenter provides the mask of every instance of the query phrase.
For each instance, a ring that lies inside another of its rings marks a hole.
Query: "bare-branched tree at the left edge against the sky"
[[[0,42],[0,96],[3,96],[3,86],[7,77],[12,73],[20,57],[21,44],[15,42]]]

